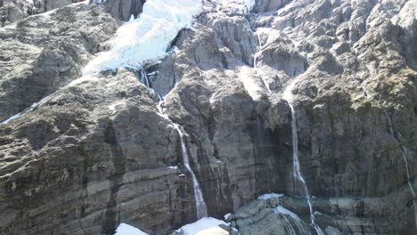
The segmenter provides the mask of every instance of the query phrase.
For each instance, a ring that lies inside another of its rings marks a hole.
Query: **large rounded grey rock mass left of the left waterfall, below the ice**
[[[181,147],[156,102],[120,71],[76,80],[1,126],[0,233],[113,234],[124,221],[162,234],[191,222],[191,177],[168,168]]]

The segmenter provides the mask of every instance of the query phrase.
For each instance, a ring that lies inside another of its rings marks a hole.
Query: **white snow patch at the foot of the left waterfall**
[[[184,225],[178,232],[183,232],[184,235],[223,235],[229,234],[228,231],[220,228],[219,224],[226,224],[224,221],[217,220],[211,217],[201,218],[195,223]]]

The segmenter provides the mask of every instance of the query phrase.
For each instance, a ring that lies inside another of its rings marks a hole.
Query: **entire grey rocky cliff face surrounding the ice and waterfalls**
[[[119,223],[168,234],[195,221],[173,124],[208,215],[232,213],[231,234],[315,234],[293,176],[290,84],[323,233],[417,233],[415,1],[229,2],[203,1],[144,73],[81,77],[143,1],[71,4],[0,28],[0,234],[113,234]],[[283,195],[257,200],[267,192]]]

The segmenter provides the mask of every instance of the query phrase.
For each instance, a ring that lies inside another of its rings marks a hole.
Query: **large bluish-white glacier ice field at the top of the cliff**
[[[170,43],[202,11],[201,0],[149,0],[138,19],[121,26],[110,40],[110,51],[99,53],[84,75],[122,67],[143,69],[164,58]]]

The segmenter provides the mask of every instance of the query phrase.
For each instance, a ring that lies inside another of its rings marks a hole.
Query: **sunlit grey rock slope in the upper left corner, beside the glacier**
[[[119,27],[95,5],[70,5],[0,28],[0,120],[82,75]]]

